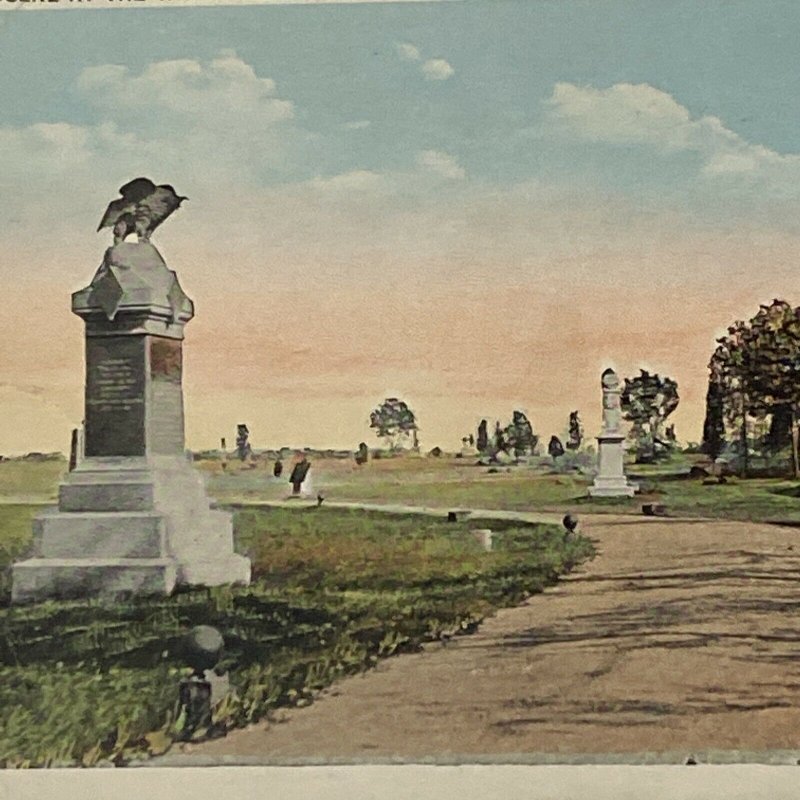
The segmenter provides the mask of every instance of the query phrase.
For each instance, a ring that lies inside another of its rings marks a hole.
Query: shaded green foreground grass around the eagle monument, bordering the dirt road
[[[27,506],[0,507],[3,564],[30,541]],[[470,533],[491,527],[485,552]],[[218,627],[236,693],[225,728],[305,704],[332,681],[425,641],[468,632],[592,554],[555,526],[447,523],[413,515],[242,509],[246,588],[170,598],[0,607],[0,763],[124,763],[163,752],[180,728],[180,643]]]

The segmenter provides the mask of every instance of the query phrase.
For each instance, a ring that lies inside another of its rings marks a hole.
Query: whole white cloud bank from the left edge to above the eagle
[[[51,235],[91,231],[116,187],[138,175],[215,196],[218,213],[235,216],[238,189],[252,199],[285,180],[309,139],[274,81],[231,52],[136,71],[91,67],[78,91],[99,110],[97,123],[0,126],[0,175],[14,186],[18,231],[42,219]]]

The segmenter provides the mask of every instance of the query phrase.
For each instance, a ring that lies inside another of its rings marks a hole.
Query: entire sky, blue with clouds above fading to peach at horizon
[[[545,440],[600,374],[678,381],[702,431],[735,319],[800,304],[800,5],[618,0],[0,13],[0,453],[83,415],[70,294],[128,180],[196,305],[187,444],[423,448],[524,410]]]

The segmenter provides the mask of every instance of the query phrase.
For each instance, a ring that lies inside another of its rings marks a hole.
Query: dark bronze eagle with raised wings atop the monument
[[[103,219],[97,226],[113,228],[114,244],[136,233],[140,242],[150,239],[150,234],[170,215],[180,208],[188,197],[181,197],[169,184],[156,186],[149,178],[136,178],[119,190],[122,195],[108,204]]]

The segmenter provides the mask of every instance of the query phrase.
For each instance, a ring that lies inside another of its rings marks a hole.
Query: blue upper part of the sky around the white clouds
[[[233,49],[274,79],[298,109],[298,124],[335,135],[369,119],[348,147],[318,150],[295,174],[402,164],[408,150],[458,141],[471,174],[491,180],[560,173],[563,148],[530,146],[557,82],[607,87],[646,83],[694,117],[713,115],[744,139],[800,151],[800,9],[792,2],[462,2],[398,5],[136,9],[4,15],[0,107],[7,124],[70,121],[99,113],[74,84],[87,66],[138,72],[167,59],[209,60]],[[395,44],[454,68],[420,81]],[[88,45],[88,46],[87,46]],[[344,134],[341,134],[345,140]],[[540,143],[541,144],[541,143]],[[559,157],[560,156],[560,157]],[[578,168],[640,183],[641,160],[583,152]],[[642,154],[642,160],[647,155]],[[670,165],[654,183],[675,181]]]

